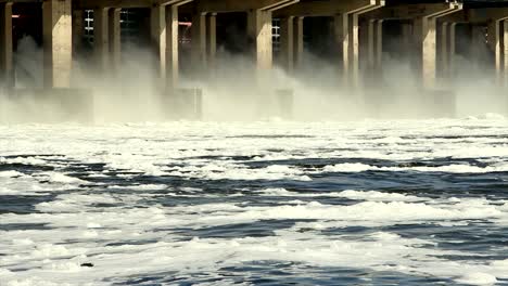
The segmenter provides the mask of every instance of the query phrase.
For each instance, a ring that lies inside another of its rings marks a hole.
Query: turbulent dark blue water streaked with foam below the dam
[[[508,121],[0,127],[0,285],[508,284]]]

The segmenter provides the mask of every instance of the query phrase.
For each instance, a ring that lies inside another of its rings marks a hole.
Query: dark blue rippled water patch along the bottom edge
[[[458,285],[450,280],[407,275],[399,272],[370,271],[347,268],[316,268],[288,261],[249,261],[237,266],[223,266],[213,273],[158,273],[132,277],[114,285],[195,285],[224,283],[227,285]]]

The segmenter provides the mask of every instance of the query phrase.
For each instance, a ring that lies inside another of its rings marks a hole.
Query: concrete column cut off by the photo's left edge
[[[0,3],[0,87],[14,87],[12,2]]]

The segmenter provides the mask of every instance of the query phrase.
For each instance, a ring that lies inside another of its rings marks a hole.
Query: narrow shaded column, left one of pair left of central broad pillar
[[[192,16],[192,65],[195,73],[206,70],[206,14],[194,13]]]

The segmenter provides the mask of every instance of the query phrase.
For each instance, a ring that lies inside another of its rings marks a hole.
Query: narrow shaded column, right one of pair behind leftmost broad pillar
[[[109,31],[110,38],[110,60],[112,70],[118,72],[122,63],[122,30],[120,30],[120,11],[119,8],[110,9]]]

